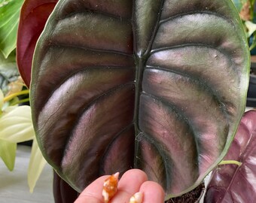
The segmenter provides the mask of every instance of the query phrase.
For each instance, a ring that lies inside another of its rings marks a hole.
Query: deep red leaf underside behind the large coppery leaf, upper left
[[[29,87],[35,44],[57,0],[26,0],[20,11],[17,34],[17,65],[21,77]]]

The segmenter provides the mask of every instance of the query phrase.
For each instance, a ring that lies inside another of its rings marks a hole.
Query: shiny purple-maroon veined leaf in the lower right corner
[[[212,173],[205,202],[254,202],[256,199],[256,111],[242,118],[224,160],[242,165],[220,165]]]

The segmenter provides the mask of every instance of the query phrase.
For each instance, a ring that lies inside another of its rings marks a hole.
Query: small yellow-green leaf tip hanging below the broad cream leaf
[[[10,171],[14,170],[17,144],[0,138],[0,157]]]

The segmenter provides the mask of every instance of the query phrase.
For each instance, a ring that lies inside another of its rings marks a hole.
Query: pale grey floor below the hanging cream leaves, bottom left
[[[53,169],[46,165],[36,183],[33,193],[29,192],[27,171],[31,147],[18,146],[14,171],[8,171],[0,159],[0,202],[1,203],[50,203],[53,200]]]

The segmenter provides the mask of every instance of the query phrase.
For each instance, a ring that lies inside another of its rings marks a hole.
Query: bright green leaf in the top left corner
[[[20,8],[23,0],[4,0],[0,2],[0,52],[8,58],[15,49]]]

